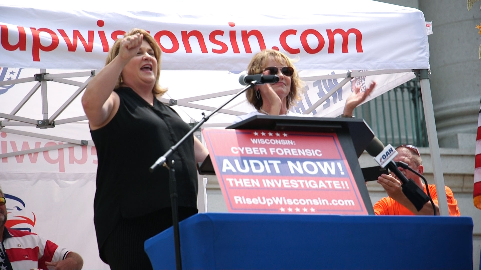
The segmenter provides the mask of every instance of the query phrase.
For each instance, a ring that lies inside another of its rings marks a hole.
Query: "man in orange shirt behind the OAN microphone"
[[[418,148],[412,145],[402,145],[396,147],[398,154],[394,157],[393,161],[403,161],[409,165],[409,167],[416,172],[422,174],[424,167],[422,166],[421,156],[419,155]],[[399,170],[403,172],[407,179],[413,179],[418,186],[426,193],[426,186],[422,182],[421,177],[415,173],[405,170],[399,167]],[[427,202],[421,210],[416,210],[414,205],[404,195],[401,182],[397,177],[393,177],[393,174],[382,174],[378,177],[378,183],[382,185],[386,190],[389,197],[381,198],[374,205],[374,213],[376,215],[432,215],[434,213],[431,202]],[[436,186],[434,184],[428,184],[429,193],[434,207],[436,208],[436,214],[439,215],[438,207],[438,195],[436,193]],[[449,215],[459,216],[459,209],[457,208],[457,201],[453,196],[453,191],[447,186],[444,186],[446,190],[446,198],[448,201]]]

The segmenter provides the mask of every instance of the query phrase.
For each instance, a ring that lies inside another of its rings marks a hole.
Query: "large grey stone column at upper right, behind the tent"
[[[432,21],[429,36],[431,92],[440,147],[473,148],[481,98],[480,2],[419,0]]]

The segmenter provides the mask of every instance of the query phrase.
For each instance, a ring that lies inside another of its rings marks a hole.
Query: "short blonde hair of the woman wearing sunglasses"
[[[304,86],[304,82],[299,78],[299,74],[294,67],[293,59],[278,50],[265,49],[256,53],[252,57],[251,62],[247,66],[247,74],[252,75],[262,73],[262,70],[266,68],[265,65],[269,58],[272,58],[278,63],[286,63],[287,66],[294,69],[294,73],[291,76],[291,91],[289,91],[286,102],[287,109],[289,110],[291,106],[295,105],[296,101],[301,100],[300,95],[303,92],[302,87]],[[255,91],[256,90],[251,87],[247,90],[245,96],[247,101],[249,101],[255,109],[259,110],[262,107],[262,98],[257,98]]]

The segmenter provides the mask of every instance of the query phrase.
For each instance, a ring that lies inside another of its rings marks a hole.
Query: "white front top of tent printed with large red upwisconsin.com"
[[[253,53],[274,48],[301,70],[429,68],[422,12],[367,0],[143,2],[76,10],[0,5],[0,66],[97,69],[133,27],[164,50],[164,70],[244,70]],[[287,8],[288,7],[288,8]],[[122,10],[114,12],[112,10]]]

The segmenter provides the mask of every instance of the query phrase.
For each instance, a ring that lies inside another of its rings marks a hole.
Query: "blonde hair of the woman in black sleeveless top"
[[[149,45],[152,47],[152,49],[154,51],[154,55],[155,55],[155,59],[157,59],[158,67],[157,67],[157,74],[155,75],[155,85],[152,88],[152,93],[154,94],[154,96],[160,97],[160,96],[164,95],[165,92],[167,92],[167,88],[161,87],[159,85],[160,67],[161,67],[160,60],[161,60],[162,49],[160,49],[160,46],[159,46],[159,44],[157,44],[155,39],[153,39],[153,37],[149,33],[147,33],[147,31],[145,31],[143,29],[133,28],[132,30],[125,33],[124,37],[133,36],[135,34],[144,35],[143,40],[147,41],[147,43],[149,43]],[[119,39],[115,40],[114,45],[109,50],[109,55],[107,56],[107,59],[105,60],[105,65],[112,62],[114,60],[114,58],[119,54],[120,41],[122,41],[122,38],[119,38]],[[123,83],[123,80],[122,80],[122,74],[121,74],[121,75],[119,75],[119,78],[117,79],[117,83],[115,84],[115,89],[120,87],[122,85],[122,83]]]

